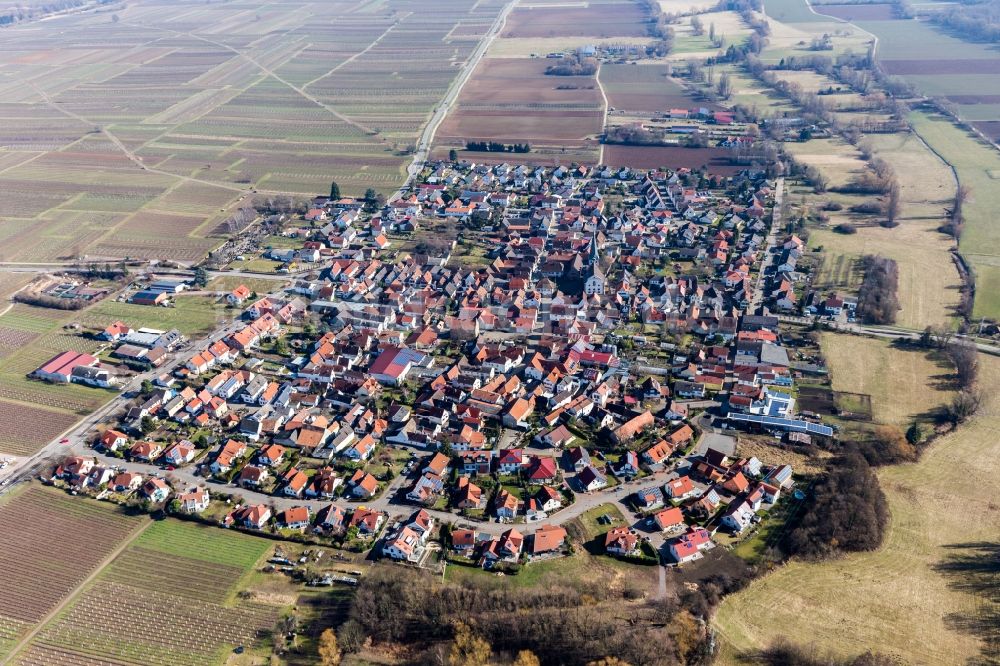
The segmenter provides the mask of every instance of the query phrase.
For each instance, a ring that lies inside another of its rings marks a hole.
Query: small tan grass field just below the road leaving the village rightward
[[[836,333],[824,333],[822,347],[833,389],[870,395],[878,423],[905,426],[951,400],[953,370],[924,351]]]

